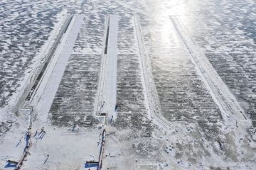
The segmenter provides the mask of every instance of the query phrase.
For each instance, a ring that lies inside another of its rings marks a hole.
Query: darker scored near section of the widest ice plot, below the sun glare
[[[203,130],[218,132],[220,110],[188,56],[182,52],[178,56],[161,54],[154,60],[158,61],[152,63],[152,69],[164,117],[171,122],[198,123]]]

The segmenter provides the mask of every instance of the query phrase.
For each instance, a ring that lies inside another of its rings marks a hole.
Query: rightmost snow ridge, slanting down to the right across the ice
[[[228,120],[229,118],[233,118],[233,125],[235,122],[234,120],[247,119],[238,101],[236,101],[235,96],[233,96],[228,89],[228,86],[226,86],[223,80],[219,77],[218,73],[215,71],[203,52],[201,52],[195,42],[188,37],[186,30],[181,27],[181,24],[178,23],[176,18],[171,18],[171,21],[174,24],[174,28],[176,28],[181,41],[183,41],[183,45],[185,45],[184,49],[188,50],[188,56],[191,57],[191,61],[196,65],[198,74],[203,77],[213,100],[220,107],[225,123],[230,123],[230,120]]]

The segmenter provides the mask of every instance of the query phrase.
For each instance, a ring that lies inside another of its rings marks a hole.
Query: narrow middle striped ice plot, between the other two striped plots
[[[132,17],[119,17],[117,56],[117,120],[118,128],[142,130],[143,135],[151,135],[150,123],[146,118],[142,86],[142,70],[137,45],[134,38]]]

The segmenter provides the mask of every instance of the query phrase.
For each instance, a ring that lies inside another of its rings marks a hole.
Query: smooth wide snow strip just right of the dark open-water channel
[[[38,88],[37,98],[33,100],[32,106],[38,114],[39,120],[46,120],[50,106],[53,103],[53,98],[58,90],[61,78],[68,64],[68,59],[73,50],[73,45],[78,36],[78,31],[82,24],[82,15],[74,16],[70,22],[67,32],[51,60],[46,73],[43,76],[41,85]],[[36,103],[35,103],[36,102]]]

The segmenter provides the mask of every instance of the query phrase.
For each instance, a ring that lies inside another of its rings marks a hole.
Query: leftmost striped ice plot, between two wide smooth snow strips
[[[98,123],[92,115],[100,74],[105,16],[84,18],[63,78],[50,108],[53,125],[74,123],[91,127]]]

